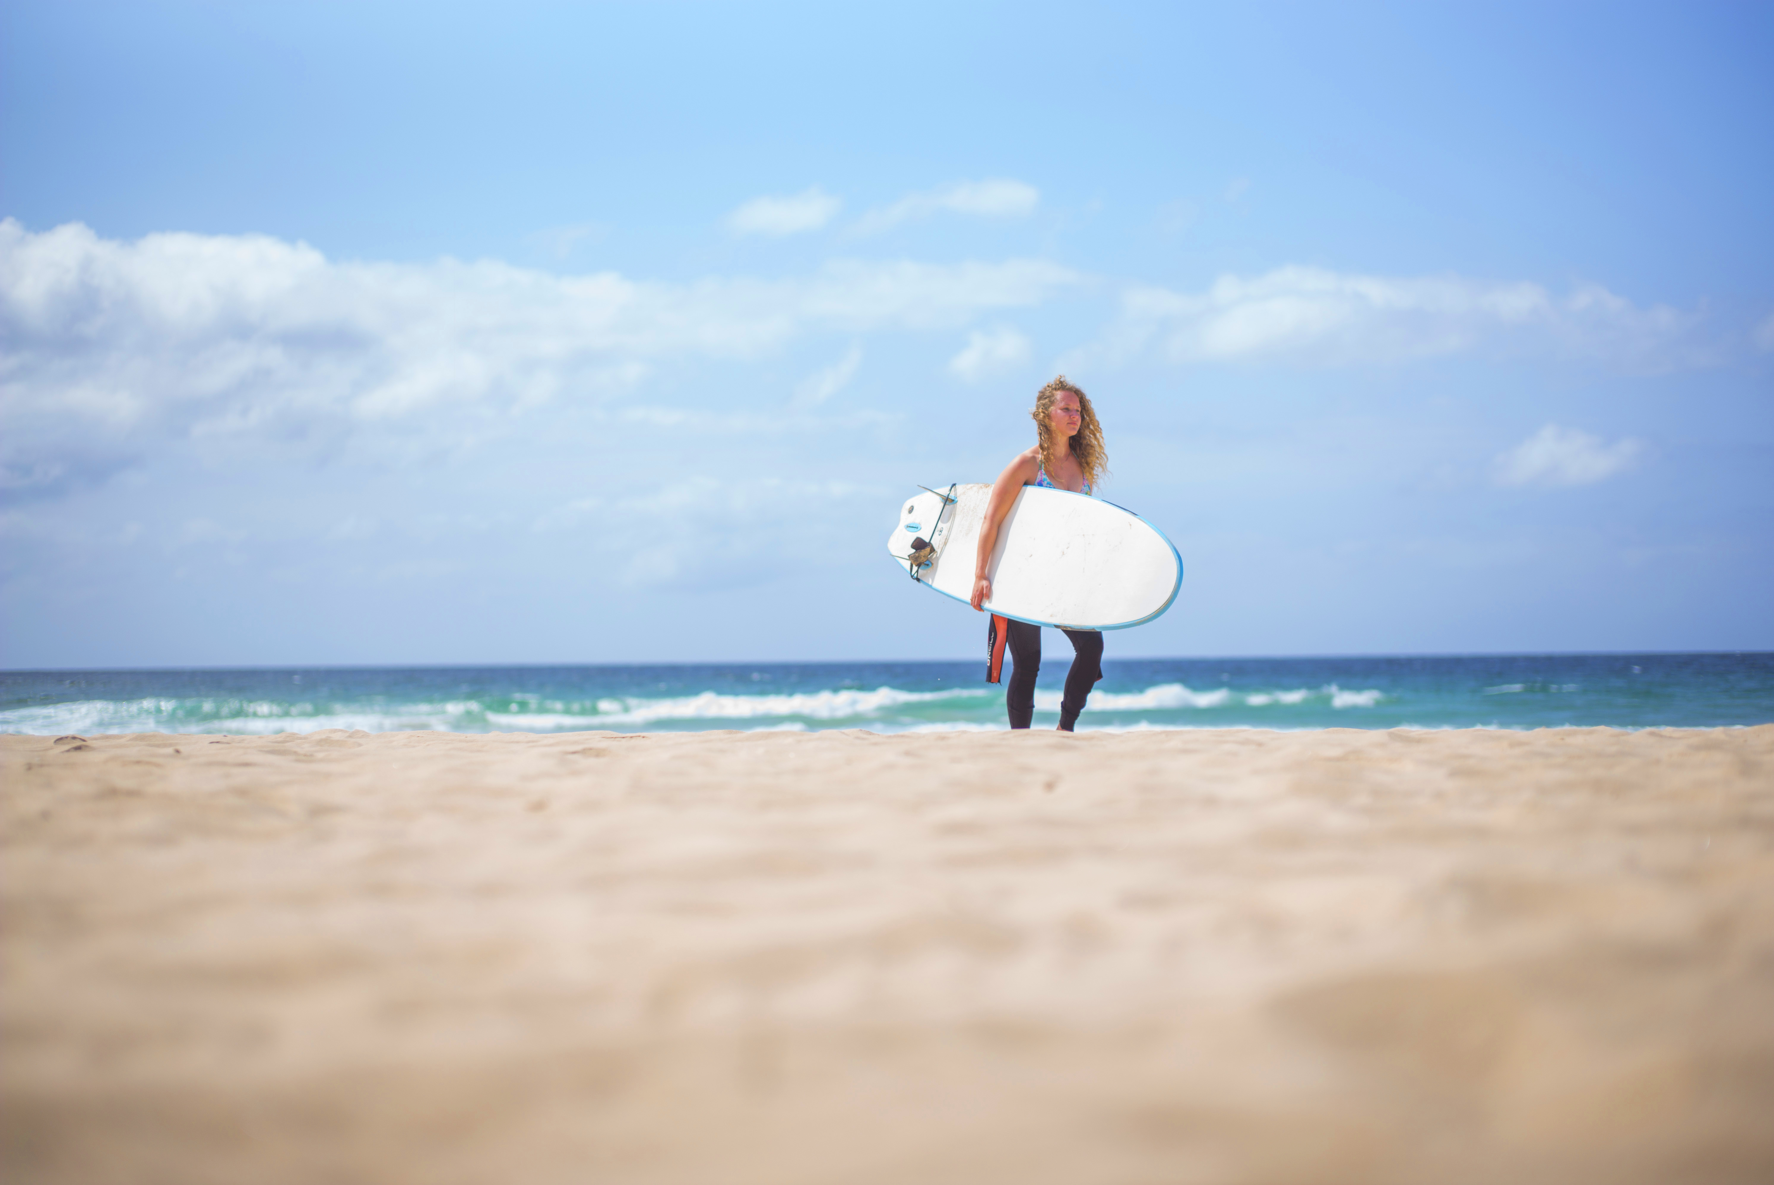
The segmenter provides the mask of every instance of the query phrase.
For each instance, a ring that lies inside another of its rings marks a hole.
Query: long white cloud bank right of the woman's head
[[[1590,284],[1554,296],[1529,282],[1277,268],[1205,293],[1132,287],[1100,349],[1173,362],[1394,364],[1490,349],[1550,351],[1637,369],[1712,362],[1696,314],[1641,307]]]

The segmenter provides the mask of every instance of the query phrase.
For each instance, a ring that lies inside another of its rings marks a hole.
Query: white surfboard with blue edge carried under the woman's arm
[[[907,498],[887,552],[919,584],[972,600],[990,498],[985,484]],[[919,539],[933,550],[914,555]],[[999,527],[986,573],[992,600],[985,607],[993,614],[1066,630],[1126,630],[1171,607],[1183,585],[1183,557],[1164,532],[1112,502],[1024,486]]]

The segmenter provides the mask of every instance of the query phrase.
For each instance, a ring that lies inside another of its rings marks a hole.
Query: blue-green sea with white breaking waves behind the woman
[[[1036,727],[1059,718],[1070,658],[1043,667]],[[1004,690],[983,676],[983,662],[11,671],[0,733],[1006,727]],[[1770,722],[1767,653],[1132,658],[1103,663],[1079,731]]]

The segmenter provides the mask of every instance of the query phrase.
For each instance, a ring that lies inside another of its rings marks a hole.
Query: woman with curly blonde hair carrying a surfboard
[[[1047,486],[1089,495],[1107,472],[1109,454],[1103,449],[1103,429],[1091,410],[1091,399],[1061,374],[1034,397],[1036,443],[1004,467],[992,484],[986,504],[986,522],[979,529],[979,555],[974,561],[974,608],[985,612],[992,598],[992,578],[986,568],[997,546],[999,527],[1024,486]],[[1041,671],[1041,626],[1009,621],[1009,692],[1004,706],[1009,726],[1025,729],[1034,718],[1034,676]],[[1059,704],[1059,729],[1070,733],[1084,711],[1096,679],[1103,678],[1103,635],[1096,630],[1066,630],[1075,656],[1066,672],[1066,695]]]

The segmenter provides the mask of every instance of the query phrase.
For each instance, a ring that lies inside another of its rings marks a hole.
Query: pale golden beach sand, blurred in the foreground
[[[1774,726],[0,768],[16,1185],[1774,1180]]]

